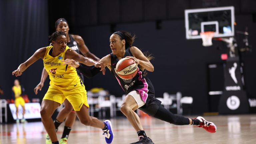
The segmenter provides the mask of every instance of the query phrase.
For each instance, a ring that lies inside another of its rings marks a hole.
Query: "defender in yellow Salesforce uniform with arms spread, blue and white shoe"
[[[51,116],[65,98],[72,104],[82,124],[101,128],[104,131],[107,143],[111,143],[113,140],[111,122],[109,120],[101,122],[97,118],[89,115],[86,91],[82,81],[77,76],[75,68],[66,64],[63,65],[61,60],[74,59],[87,66],[95,65],[95,67],[101,67],[100,63],[71,50],[67,46],[65,33],[61,31],[54,32],[49,38],[52,43],[51,46],[38,49],[17,70],[13,71],[12,74],[20,76],[31,64],[40,58],[43,59],[44,67],[50,76],[51,82],[43,98],[40,113],[43,125],[52,143],[58,144],[58,139]]]

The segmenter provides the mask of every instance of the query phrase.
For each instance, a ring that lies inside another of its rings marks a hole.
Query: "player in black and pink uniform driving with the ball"
[[[127,94],[121,106],[121,112],[128,118],[133,128],[137,131],[139,141],[132,144],[154,144],[143,130],[139,116],[134,112],[136,109],[140,109],[152,117],[171,124],[197,125],[208,132],[215,133],[217,127],[214,123],[208,122],[200,116],[191,119],[175,115],[165,109],[161,105],[161,102],[155,98],[154,87],[149,78],[143,73],[143,69],[150,72],[154,71],[154,67],[149,61],[152,57],[144,56],[137,47],[132,46],[134,38],[135,36],[125,31],[113,33],[110,36],[110,48],[112,53],[103,57],[99,61],[100,64],[97,64],[101,65],[101,67],[107,66]],[[136,76],[129,81],[121,79],[115,72],[116,63],[125,57],[133,59],[134,63],[140,68]],[[84,73],[85,68],[74,60],[66,59],[65,64],[77,67],[82,74]],[[92,75],[96,73],[97,72],[94,72]]]

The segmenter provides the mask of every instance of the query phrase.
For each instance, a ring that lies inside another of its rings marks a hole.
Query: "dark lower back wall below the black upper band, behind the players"
[[[243,23],[246,20],[247,23]],[[236,22],[239,23],[236,27],[237,30],[242,31],[246,26],[249,28],[249,42],[255,46],[256,41],[253,39],[256,30],[251,16],[237,15]],[[213,46],[203,47],[201,39],[186,40],[184,23],[184,20],[162,21],[162,28],[159,30],[155,29],[155,22],[117,24],[115,28],[135,33],[137,37],[133,45],[143,52],[152,53],[155,57],[151,61],[155,71],[148,72],[148,77],[155,88],[155,96],[163,97],[164,92],[175,94],[180,91],[183,96],[193,97],[192,112],[200,114],[209,111],[207,64],[225,63],[221,60],[221,54],[228,51],[226,44],[219,41],[213,41]],[[83,37],[90,51],[98,57],[111,53],[109,47],[109,37],[112,34],[111,26],[72,27],[72,30],[75,34]],[[241,37],[243,38],[243,36]],[[254,82],[256,78],[253,74],[256,70],[255,56],[255,50],[251,53],[242,53],[246,91],[249,97],[255,97]],[[221,79],[217,75],[214,77],[216,80]],[[88,90],[93,87],[103,87],[115,96],[124,94],[108,69],[105,76],[98,74],[92,79],[86,79],[85,86]],[[218,102],[215,107],[217,104]]]

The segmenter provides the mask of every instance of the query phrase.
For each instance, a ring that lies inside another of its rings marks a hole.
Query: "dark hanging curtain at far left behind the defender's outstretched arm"
[[[11,73],[33,53],[48,45],[47,0],[1,0],[1,98],[11,98],[11,87],[16,79]],[[3,26],[2,26],[3,25]],[[3,30],[2,30],[3,29]],[[4,34],[4,35],[2,35]],[[30,98],[42,99],[43,93],[35,96],[33,88],[40,82],[43,61],[31,65],[22,76],[17,77]]]

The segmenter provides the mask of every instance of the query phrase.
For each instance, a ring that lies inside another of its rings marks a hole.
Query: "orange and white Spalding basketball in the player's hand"
[[[122,58],[116,64],[117,75],[122,79],[132,79],[138,72],[136,63],[133,59]]]

